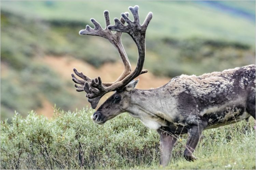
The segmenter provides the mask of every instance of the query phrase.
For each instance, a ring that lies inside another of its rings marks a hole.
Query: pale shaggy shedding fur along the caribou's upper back
[[[239,70],[245,70],[244,75],[236,75]],[[187,92],[194,97],[202,97],[209,95],[215,97],[220,89],[222,91],[228,91],[234,86],[236,76],[241,76],[239,81],[239,86],[245,88],[248,85],[248,78],[250,76],[250,71],[255,70],[255,65],[248,65],[245,67],[237,67],[234,69],[227,69],[221,72],[206,73],[200,76],[196,75],[185,75],[173,78],[168,83],[168,91],[172,92],[173,95],[179,95],[182,92]],[[249,71],[247,73],[247,71]]]

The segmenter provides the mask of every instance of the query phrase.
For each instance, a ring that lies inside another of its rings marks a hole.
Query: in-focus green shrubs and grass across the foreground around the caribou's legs
[[[122,114],[102,126],[92,109],[54,110],[48,120],[34,112],[12,124],[1,121],[1,169],[255,169],[255,125],[246,122],[203,131],[194,155],[182,154],[187,135],[177,140],[170,164],[159,167],[159,136]]]

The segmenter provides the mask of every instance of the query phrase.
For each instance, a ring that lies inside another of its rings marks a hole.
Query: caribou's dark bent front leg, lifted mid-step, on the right
[[[188,139],[186,144],[186,149],[184,151],[184,157],[188,161],[194,161],[197,158],[193,156],[193,152],[196,149],[197,143],[202,134],[203,127],[200,125],[191,126],[188,128]]]

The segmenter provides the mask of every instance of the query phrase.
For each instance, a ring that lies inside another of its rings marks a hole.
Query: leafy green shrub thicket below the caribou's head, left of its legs
[[[92,113],[55,110],[48,120],[31,112],[1,122],[1,169],[116,169],[149,164],[158,154],[158,135],[138,120],[123,115],[98,126]]]

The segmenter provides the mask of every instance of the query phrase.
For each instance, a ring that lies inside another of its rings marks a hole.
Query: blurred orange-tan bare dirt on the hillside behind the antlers
[[[88,63],[85,63],[81,60],[77,60],[74,57],[71,56],[64,56],[64,57],[56,57],[56,56],[45,56],[40,59],[39,62],[42,62],[51,68],[53,68],[62,78],[65,82],[72,82],[71,73],[73,72],[73,68],[76,68],[78,71],[82,71],[84,74],[88,75],[91,78],[96,78],[98,76],[101,76],[103,81],[105,82],[113,82],[115,81],[119,75],[123,72],[124,66],[121,62],[118,63],[106,63],[102,65],[99,69],[89,65]],[[132,69],[134,69],[135,66],[132,65]],[[146,68],[145,68],[146,69]],[[150,89],[150,88],[156,88],[160,87],[167,82],[170,81],[170,78],[158,78],[155,77],[153,74],[150,73],[150,70],[148,73],[142,74],[138,77],[140,79],[140,82],[137,86],[137,88],[140,89]],[[67,90],[70,90],[75,96],[78,98],[81,98],[81,102],[84,103],[83,106],[89,105],[87,102],[87,99],[85,98],[85,93],[83,92],[76,92],[75,87],[67,87]],[[100,104],[102,104],[105,99],[110,96],[111,94],[106,94],[106,97],[102,97],[100,100]],[[51,117],[51,113],[53,113],[53,106],[54,103],[50,103],[47,101],[47,99],[43,100],[43,107],[39,108],[37,110],[37,113],[43,114],[47,117]],[[98,105],[98,107],[99,107]],[[79,108],[80,105],[77,104],[77,107]],[[50,114],[46,114],[50,113]]]

